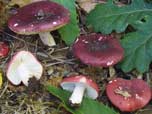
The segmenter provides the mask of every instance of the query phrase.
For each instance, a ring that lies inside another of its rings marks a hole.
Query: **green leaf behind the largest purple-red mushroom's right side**
[[[59,29],[59,33],[62,39],[67,45],[74,42],[76,37],[79,35],[79,26],[77,20],[77,13],[75,8],[75,0],[53,0],[70,11],[70,23]]]

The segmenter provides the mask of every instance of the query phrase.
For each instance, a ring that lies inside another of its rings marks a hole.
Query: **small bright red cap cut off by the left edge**
[[[5,42],[0,42],[0,58],[6,57],[9,53],[9,46]]]

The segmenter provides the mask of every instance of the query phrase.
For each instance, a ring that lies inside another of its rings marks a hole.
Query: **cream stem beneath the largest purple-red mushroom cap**
[[[47,46],[55,46],[56,43],[54,41],[53,36],[50,34],[50,32],[42,32],[39,33],[39,36],[42,40],[42,42]]]

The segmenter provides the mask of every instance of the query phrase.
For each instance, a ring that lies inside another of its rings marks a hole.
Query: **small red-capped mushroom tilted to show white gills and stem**
[[[81,104],[84,94],[92,99],[98,97],[98,85],[93,80],[83,75],[64,78],[61,82],[61,87],[70,92],[73,91],[69,102],[74,106]]]

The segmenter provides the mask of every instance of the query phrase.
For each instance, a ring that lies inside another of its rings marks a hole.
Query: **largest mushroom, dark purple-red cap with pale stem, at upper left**
[[[9,28],[18,34],[39,34],[42,42],[48,46],[56,45],[50,31],[66,25],[70,13],[63,6],[52,1],[34,2],[20,8],[10,17]]]

